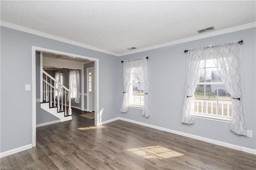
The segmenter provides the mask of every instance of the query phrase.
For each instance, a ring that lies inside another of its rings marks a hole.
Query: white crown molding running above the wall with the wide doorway
[[[8,23],[8,22],[1,21],[0,25],[3,26],[3,27],[14,29],[14,30],[18,30],[18,31],[34,34],[34,35],[37,35],[37,36],[41,36],[41,37],[45,37],[45,38],[50,38],[52,40],[56,40],[56,41],[59,41],[59,42],[69,43],[69,44],[76,45],[76,46],[79,46],[79,47],[84,47],[84,48],[87,48],[87,49],[92,49],[94,51],[99,51],[99,52],[102,52],[102,53],[107,53],[107,54],[110,54],[110,55],[118,56],[117,53],[113,53],[111,51],[107,51],[107,50],[104,50],[104,49],[92,47],[90,45],[85,45],[83,43],[74,42],[74,41],[71,41],[71,40],[67,40],[67,39],[64,39],[64,38],[60,38],[60,37],[57,37],[57,36],[46,34],[44,32],[32,30],[30,28],[18,26],[18,25],[11,24],[11,23]]]

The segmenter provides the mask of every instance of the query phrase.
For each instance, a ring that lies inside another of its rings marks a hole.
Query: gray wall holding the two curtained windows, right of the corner
[[[148,56],[148,70],[151,91],[152,116],[144,117],[142,110],[129,108],[128,113],[120,113],[119,117],[148,123],[188,134],[194,134],[221,142],[256,149],[256,28],[232,32],[201,40],[180,43],[168,47],[152,49],[118,58],[117,73],[117,109],[120,110],[123,96],[121,60]],[[252,130],[252,138],[235,134],[230,131],[230,123],[195,118],[194,125],[181,123],[184,87],[186,81],[187,53],[185,49],[244,40],[241,45],[242,66],[244,75],[244,97],[246,107],[247,127]]]

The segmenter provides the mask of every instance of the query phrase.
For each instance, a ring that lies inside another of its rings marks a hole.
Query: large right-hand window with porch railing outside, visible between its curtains
[[[220,67],[216,67],[214,60],[200,61],[204,67],[200,68],[203,69],[202,76],[194,93],[194,112],[198,116],[231,119],[232,97],[220,78],[217,70]]]

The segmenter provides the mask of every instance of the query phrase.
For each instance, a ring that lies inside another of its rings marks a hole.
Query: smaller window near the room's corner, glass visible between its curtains
[[[130,84],[128,88],[128,105],[143,107],[144,91],[139,81],[139,74],[136,68],[132,68],[130,72]]]

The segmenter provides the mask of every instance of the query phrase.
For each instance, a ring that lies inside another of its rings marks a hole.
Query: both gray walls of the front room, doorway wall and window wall
[[[107,121],[119,116],[150,125],[256,149],[255,32],[256,28],[251,28],[211,38],[116,57],[1,27],[0,152],[32,144],[32,91],[25,91],[25,84],[32,85],[32,46],[99,59],[99,109],[100,111],[103,109],[102,121]],[[229,130],[230,123],[205,119],[195,119],[194,125],[181,123],[187,58],[184,49],[234,40],[244,40],[244,44],[241,45],[243,55],[244,96],[247,126],[248,129],[253,130],[252,138],[231,132]],[[152,116],[149,118],[142,116],[142,110],[140,109],[129,108],[128,113],[120,113],[119,111],[123,95],[121,60],[142,56],[149,57],[148,68],[152,97]],[[8,70],[8,72],[6,72],[6,70]],[[15,89],[15,91],[6,89]],[[17,109],[12,109],[14,107],[13,103],[10,101],[13,101],[13,96],[15,96],[16,101],[18,101],[15,104],[15,108]]]

